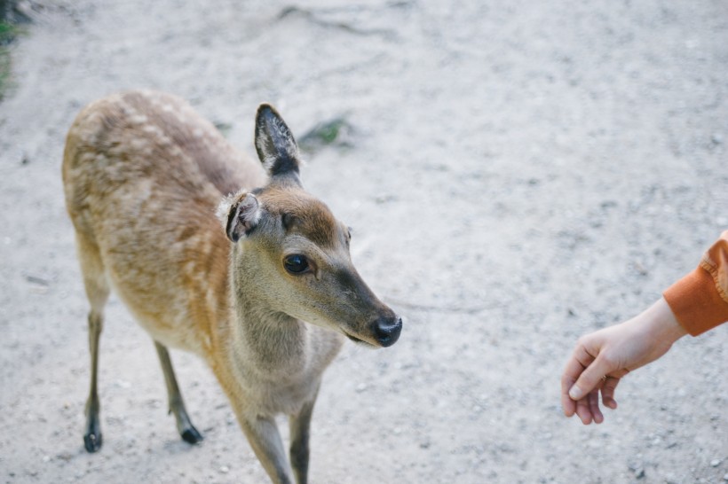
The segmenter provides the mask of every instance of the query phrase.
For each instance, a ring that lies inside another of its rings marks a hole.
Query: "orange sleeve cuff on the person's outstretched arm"
[[[692,336],[728,321],[728,230],[703,255],[697,269],[662,295]]]

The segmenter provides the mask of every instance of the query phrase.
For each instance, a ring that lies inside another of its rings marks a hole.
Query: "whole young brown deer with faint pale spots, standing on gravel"
[[[154,339],[182,438],[202,435],[167,347],[210,365],[274,482],[306,481],[313,404],[343,336],[367,347],[400,337],[400,317],[352,265],[349,230],[303,190],[297,144],[270,105],[257,110],[255,145],[262,166],[185,102],[151,91],[99,100],[71,127],[63,182],[91,303],[89,452],[101,447],[99,334],[112,287]]]

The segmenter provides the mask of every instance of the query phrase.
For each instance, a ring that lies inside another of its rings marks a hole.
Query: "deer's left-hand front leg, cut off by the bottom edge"
[[[238,420],[257,459],[263,464],[273,483],[293,484],[281,433],[278,432],[274,418],[260,415],[247,417],[239,413]]]

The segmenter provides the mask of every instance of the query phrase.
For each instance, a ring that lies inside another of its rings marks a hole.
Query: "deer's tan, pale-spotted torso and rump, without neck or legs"
[[[76,236],[98,248],[139,323],[168,346],[209,350],[210,326],[228,311],[230,244],[215,208],[265,184],[260,164],[181,99],[138,91],[78,115],[63,179]]]

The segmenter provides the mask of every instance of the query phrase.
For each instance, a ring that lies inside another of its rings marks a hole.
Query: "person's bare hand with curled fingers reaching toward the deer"
[[[668,352],[686,334],[667,301],[660,299],[638,316],[592,332],[576,343],[561,377],[561,407],[584,425],[601,424],[602,403],[617,408],[614,391],[629,371],[651,363]]]

